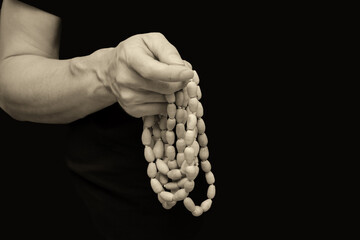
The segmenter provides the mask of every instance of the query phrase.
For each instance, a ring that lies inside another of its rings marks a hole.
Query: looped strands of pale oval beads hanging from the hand
[[[158,200],[165,209],[183,201],[185,208],[194,216],[208,211],[215,197],[215,177],[208,160],[208,138],[202,119],[204,110],[199,101],[202,96],[199,81],[194,71],[193,79],[184,89],[166,95],[167,115],[143,117],[141,136],[145,146],[144,156],[149,163],[147,175]],[[207,199],[195,205],[189,193],[195,187],[199,158],[209,186]]]

